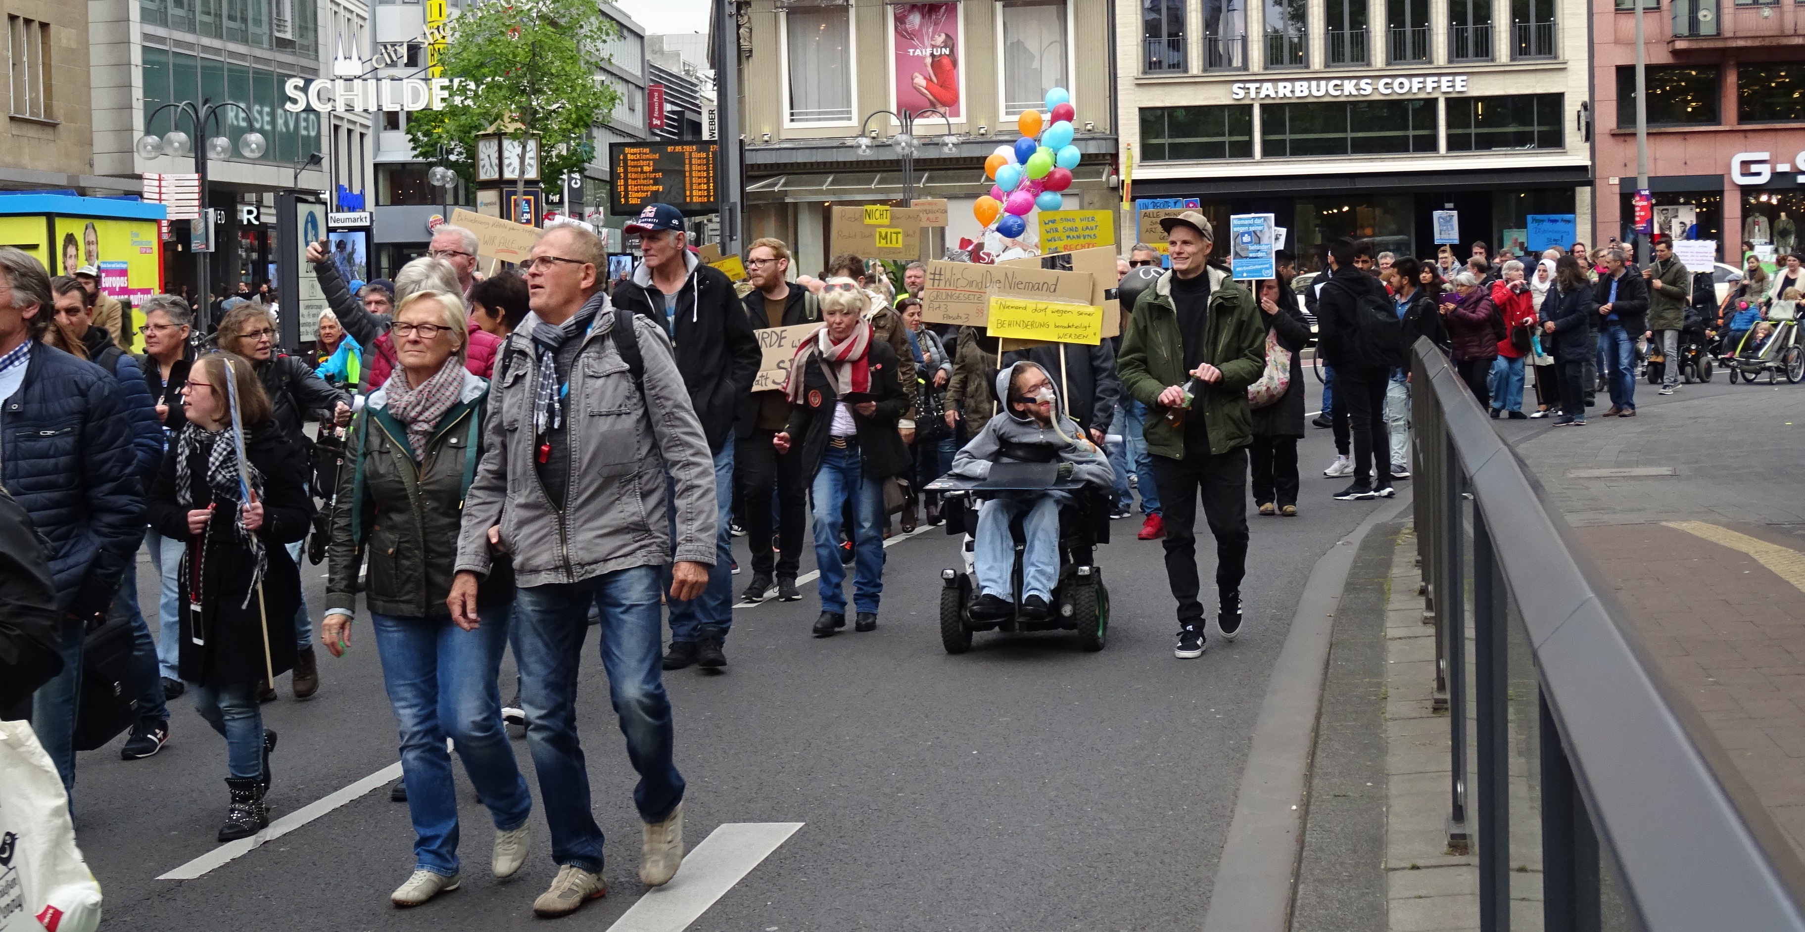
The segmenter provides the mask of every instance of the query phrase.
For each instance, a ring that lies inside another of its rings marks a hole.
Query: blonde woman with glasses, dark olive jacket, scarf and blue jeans
[[[464,368],[464,302],[415,291],[390,329],[401,363],[352,424],[332,509],[327,616],[334,657],[352,643],[357,576],[388,701],[401,724],[401,771],[413,816],[415,867],[390,894],[417,907],[458,885],[458,813],[449,737],[495,822],[491,871],[511,876],[527,856],[532,797],[502,724],[496,672],[514,598],[511,564],[496,560],[478,587],[480,623],[451,621],[446,596],[457,564],[464,495],[482,457],[489,383]]]

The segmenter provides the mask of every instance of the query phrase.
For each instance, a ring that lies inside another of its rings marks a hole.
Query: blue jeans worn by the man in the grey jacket
[[[601,827],[590,815],[588,768],[576,737],[576,685],[588,632],[588,607],[601,612],[601,666],[608,699],[639,771],[634,804],[644,822],[662,822],[682,802],[671,760],[671,703],[664,695],[659,567],[644,565],[576,583],[522,587],[509,643],[520,668],[527,748],[540,775],[540,802],[552,829],[552,860],[601,871]]]

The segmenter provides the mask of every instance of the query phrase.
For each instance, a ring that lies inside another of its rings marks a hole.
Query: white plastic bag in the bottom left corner
[[[0,932],[94,932],[101,885],[56,764],[25,722],[0,722]]]

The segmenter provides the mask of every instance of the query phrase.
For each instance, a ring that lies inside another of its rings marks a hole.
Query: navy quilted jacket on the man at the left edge
[[[58,609],[106,610],[144,540],[132,428],[119,379],[42,343],[0,401],[0,480],[51,545]]]

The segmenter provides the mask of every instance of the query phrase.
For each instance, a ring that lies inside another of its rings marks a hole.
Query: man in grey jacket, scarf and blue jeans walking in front
[[[603,242],[561,226],[540,238],[522,269],[532,312],[496,358],[482,464],[464,502],[446,601],[453,621],[473,630],[478,580],[496,553],[513,558],[520,594],[511,641],[560,865],[532,912],[565,916],[608,892],[576,735],[590,605],[601,612],[608,697],[639,771],[639,880],[659,887],[682,863],[684,780],[671,760],[659,578],[675,562],[675,601],[708,585],[715,466],[670,338],[655,322],[608,305]]]

